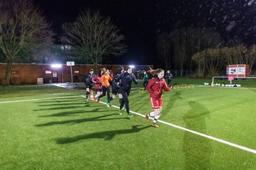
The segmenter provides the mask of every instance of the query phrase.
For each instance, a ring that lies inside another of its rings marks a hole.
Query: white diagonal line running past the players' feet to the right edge
[[[82,97],[85,97],[85,96],[82,96]],[[100,103],[107,104],[107,103],[102,102],[102,101],[100,101]],[[119,109],[119,107],[114,106],[114,105],[112,105],[112,107]],[[130,113],[134,113],[134,114],[136,114],[136,115],[145,117],[145,115],[142,115],[141,113],[137,113],[137,112],[134,112],[134,111],[130,111]],[[149,118],[150,118],[150,117],[149,117]],[[150,118],[150,119],[153,120],[153,118]],[[189,130],[189,129],[187,129],[187,128],[183,128],[183,127],[178,126],[178,125],[174,125],[174,124],[171,124],[171,123],[164,122],[163,120],[158,120],[158,121],[159,121],[159,123],[164,123],[165,125],[170,125],[170,126],[172,126],[172,127],[174,127],[174,128],[178,128],[178,129],[180,129],[180,130],[184,130],[184,131],[187,131],[187,132],[191,132],[191,133],[193,133],[193,134],[196,134],[196,135],[199,135],[199,136],[202,136],[202,137],[206,137],[206,138],[208,138],[208,139],[210,139],[210,140],[215,140],[215,141],[220,142],[220,143],[223,143],[223,144],[225,144],[225,145],[230,145],[231,147],[236,147],[236,148],[238,148],[238,149],[242,149],[242,150],[245,150],[245,151],[247,151],[247,152],[251,152],[251,153],[253,153],[253,154],[256,154],[256,150],[255,150],[255,149],[250,149],[250,148],[248,148],[248,147],[243,147],[243,146],[241,146],[241,145],[236,145],[236,144],[234,144],[234,143],[232,143],[232,142],[228,142],[228,141],[225,141],[225,140],[220,140],[220,139],[218,139],[218,138],[216,138],[216,137],[212,137],[212,136],[210,136],[210,135],[205,135],[205,134],[203,134],[203,133],[201,133],[201,132],[196,132],[196,131],[194,131],[194,130]]]

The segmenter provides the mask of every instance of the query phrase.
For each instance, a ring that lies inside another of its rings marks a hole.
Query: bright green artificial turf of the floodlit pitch
[[[175,86],[195,86],[164,92],[160,120],[256,149],[256,89],[197,86],[205,81],[173,79]],[[129,105],[144,115],[152,109],[139,83],[132,84]],[[0,169],[256,169],[252,152],[163,123],[152,128],[142,116],[129,119],[85,101],[84,91],[51,85],[0,91]]]

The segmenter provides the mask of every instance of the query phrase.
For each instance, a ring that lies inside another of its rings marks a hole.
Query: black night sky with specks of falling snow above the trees
[[[128,51],[112,64],[154,64],[156,37],[175,28],[213,28],[224,40],[255,43],[256,0],[33,0],[60,33],[80,11],[100,10],[126,38]]]

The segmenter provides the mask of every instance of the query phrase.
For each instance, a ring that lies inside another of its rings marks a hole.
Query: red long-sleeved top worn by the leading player
[[[151,98],[161,98],[163,89],[164,91],[171,91],[165,79],[159,79],[158,77],[150,79],[146,89],[149,91]]]

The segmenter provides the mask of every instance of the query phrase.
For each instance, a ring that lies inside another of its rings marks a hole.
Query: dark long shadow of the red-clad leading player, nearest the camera
[[[108,130],[108,131],[103,131],[103,132],[93,132],[93,133],[89,133],[86,135],[78,135],[75,137],[61,137],[61,138],[58,138],[56,141],[58,144],[68,144],[68,143],[78,142],[80,140],[89,140],[89,139],[93,139],[93,138],[112,140],[115,135],[140,132],[141,130],[151,127],[149,125],[149,126],[144,126],[142,128],[138,128],[139,126],[142,126],[142,125],[133,125],[132,129],[126,129],[126,130]]]

